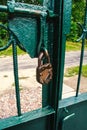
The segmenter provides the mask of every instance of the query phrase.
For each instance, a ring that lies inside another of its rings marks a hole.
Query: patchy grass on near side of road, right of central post
[[[71,67],[66,69],[64,76],[65,77],[72,77],[78,75],[79,67]],[[82,67],[82,76],[87,77],[87,65],[83,65]]]

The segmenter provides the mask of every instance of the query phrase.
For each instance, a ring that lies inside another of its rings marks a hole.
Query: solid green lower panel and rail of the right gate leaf
[[[87,129],[87,93],[59,101],[59,130]]]

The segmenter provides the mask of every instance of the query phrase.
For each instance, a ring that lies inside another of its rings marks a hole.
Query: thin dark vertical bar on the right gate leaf
[[[83,64],[83,57],[84,57],[84,44],[85,44],[86,33],[87,33],[87,0],[86,0],[86,9],[85,9],[85,18],[84,18],[84,27],[83,27],[83,37],[82,37],[82,48],[81,48],[81,56],[80,56],[80,66],[79,66],[79,73],[78,73],[76,97],[78,96],[79,88],[80,88],[82,64]]]

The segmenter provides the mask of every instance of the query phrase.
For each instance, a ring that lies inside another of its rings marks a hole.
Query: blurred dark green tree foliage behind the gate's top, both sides
[[[24,2],[29,4],[40,5],[43,0],[15,0],[16,2]],[[7,0],[0,0],[0,4],[6,5]],[[71,16],[71,33],[67,35],[68,41],[76,41],[81,35],[81,29],[77,25],[77,22],[83,24],[85,14],[86,0],[72,0],[72,16]],[[0,23],[6,24],[7,14],[0,13]],[[0,29],[0,45],[2,40],[6,38],[5,31]]]

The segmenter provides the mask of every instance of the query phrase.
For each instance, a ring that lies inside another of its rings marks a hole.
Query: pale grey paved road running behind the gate
[[[80,61],[80,51],[66,52],[65,67],[77,66]],[[31,59],[28,54],[18,56],[20,69],[35,68],[37,66],[37,58]],[[12,57],[0,58],[0,71],[10,71],[13,68]],[[87,51],[84,52],[84,64],[87,64]]]

